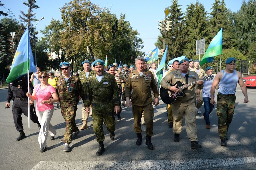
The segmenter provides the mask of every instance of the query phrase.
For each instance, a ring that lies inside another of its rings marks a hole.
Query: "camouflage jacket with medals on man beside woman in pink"
[[[84,100],[85,92],[82,89],[82,84],[77,76],[72,75],[66,82],[64,75],[58,77],[56,92],[59,95],[60,105],[67,107],[77,105],[79,95]]]

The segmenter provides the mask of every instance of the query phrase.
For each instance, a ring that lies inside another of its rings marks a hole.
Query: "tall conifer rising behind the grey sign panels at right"
[[[184,54],[188,58],[195,58],[196,55],[196,40],[200,40],[207,36],[207,17],[203,4],[196,1],[191,3],[185,15],[185,28],[183,35],[185,37]]]

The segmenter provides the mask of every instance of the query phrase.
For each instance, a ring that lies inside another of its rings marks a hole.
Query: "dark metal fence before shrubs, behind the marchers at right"
[[[208,66],[213,67],[214,74],[220,71],[220,61],[214,60],[211,63],[205,63],[200,66],[201,69],[205,70]],[[225,61],[221,62],[221,70],[226,69]],[[241,73],[248,73],[248,61],[247,60],[237,60],[236,70]]]

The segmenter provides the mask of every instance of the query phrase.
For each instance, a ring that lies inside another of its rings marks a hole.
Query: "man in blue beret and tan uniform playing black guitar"
[[[179,136],[182,129],[183,115],[185,114],[185,124],[186,131],[189,140],[191,141],[191,149],[201,148],[201,145],[197,142],[197,128],[196,128],[196,112],[195,112],[195,86],[199,89],[203,88],[203,82],[199,81],[199,77],[195,72],[188,71],[189,60],[185,58],[180,61],[179,70],[169,73],[165,78],[162,79],[162,87],[171,90],[175,93],[179,93],[180,89],[177,85],[171,86],[170,84],[175,84],[175,82],[180,81],[183,84],[189,84],[197,81],[197,84],[190,85],[185,88],[183,92],[186,94],[183,97],[178,97],[173,103],[172,115],[173,115],[173,133],[174,142],[179,142]],[[170,84],[169,84],[170,83]]]

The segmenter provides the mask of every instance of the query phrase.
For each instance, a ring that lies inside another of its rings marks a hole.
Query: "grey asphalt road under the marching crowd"
[[[205,128],[203,116],[197,115],[201,149],[190,149],[185,127],[182,128],[180,142],[174,142],[172,129],[167,125],[166,105],[160,101],[154,110],[154,150],[147,149],[145,145],[145,125],[142,125],[143,144],[135,144],[137,137],[133,131],[132,110],[124,107],[122,119],[116,121],[114,141],[110,140],[104,125],[106,151],[101,156],[95,155],[99,145],[93,132],[91,117],[88,129],[81,131],[79,137],[72,141],[71,152],[63,152],[65,123],[60,109],[56,107],[51,123],[57,135],[53,141],[48,137],[46,152],[40,152],[37,125],[30,121],[31,127],[28,128],[28,119],[24,115],[23,127],[27,137],[15,141],[19,133],[15,129],[11,109],[4,111],[6,96],[7,89],[0,89],[0,169],[255,169],[256,88],[248,89],[249,103],[246,104],[243,103],[244,97],[240,87],[237,88],[228,147],[220,146],[216,108],[210,114],[210,130]],[[76,116],[79,127],[82,125],[80,110],[81,102]],[[204,112],[203,106],[201,111]]]

